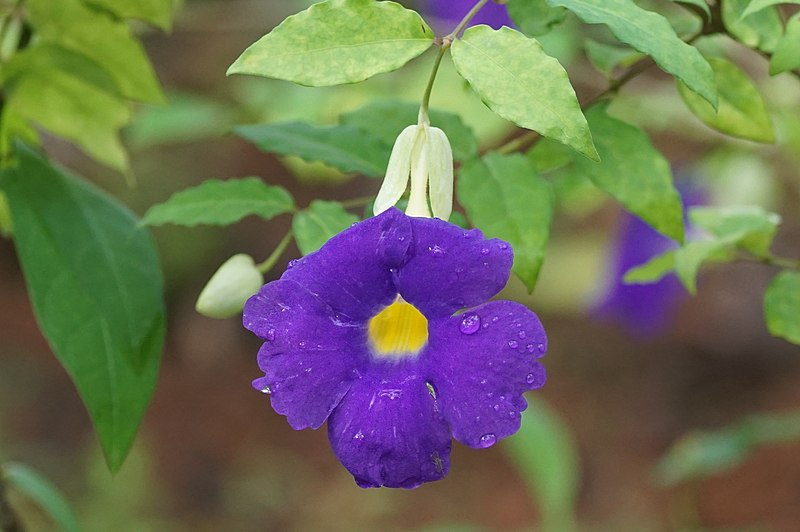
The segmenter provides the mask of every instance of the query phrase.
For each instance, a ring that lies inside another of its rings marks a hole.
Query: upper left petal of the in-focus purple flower
[[[394,301],[390,270],[406,260],[410,242],[409,218],[390,208],[290,263],[281,279],[295,281],[342,316],[364,321]]]

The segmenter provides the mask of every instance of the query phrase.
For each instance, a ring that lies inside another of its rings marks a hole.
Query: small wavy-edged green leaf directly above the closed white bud
[[[209,179],[150,207],[142,223],[230,225],[251,214],[269,220],[293,210],[294,200],[286,189],[267,185],[258,177]]]

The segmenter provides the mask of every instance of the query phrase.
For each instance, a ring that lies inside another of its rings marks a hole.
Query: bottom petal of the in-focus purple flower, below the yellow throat
[[[447,475],[450,432],[415,368],[373,365],[328,420],[331,447],[362,488],[414,488]]]

